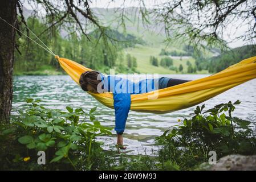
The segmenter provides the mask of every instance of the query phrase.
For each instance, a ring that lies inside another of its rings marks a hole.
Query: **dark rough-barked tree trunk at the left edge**
[[[15,27],[17,0],[0,1],[0,17]],[[13,99],[15,30],[0,19],[0,123],[9,122]]]

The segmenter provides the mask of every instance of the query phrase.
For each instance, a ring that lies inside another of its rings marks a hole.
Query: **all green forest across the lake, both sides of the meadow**
[[[99,39],[100,32],[92,31],[88,36],[70,34],[67,36],[61,35],[60,28],[54,28],[47,33],[42,33],[47,30],[47,25],[40,22],[40,19],[30,16],[27,18],[27,26],[39,35],[39,38],[50,47],[52,51],[61,57],[66,57],[75,60],[80,64],[87,65],[87,67],[99,70],[101,72],[109,73],[110,68],[115,68],[117,73],[134,73],[137,72],[136,57],[126,55],[124,49],[136,47],[137,44],[147,45],[141,38],[137,38],[131,34],[122,34],[117,30],[107,30],[106,34],[112,39]],[[24,33],[26,28],[22,27]],[[30,35],[32,36],[32,35]],[[30,39],[25,37],[17,38],[18,47],[15,50],[14,57],[14,74],[15,75],[60,75],[63,74],[62,69],[55,58],[44,49],[35,45]],[[148,64],[154,67],[168,68],[170,71],[180,73],[197,73],[198,71],[206,70],[209,73],[220,72],[232,64],[238,63],[246,57],[254,56],[256,46],[243,46],[235,49],[223,50],[207,49],[206,51],[217,51],[218,56],[210,57],[205,55],[205,51],[195,50],[193,46],[184,45],[179,51],[168,51],[168,49],[161,49],[159,55],[165,56],[160,60],[149,55]],[[169,56],[190,56],[195,62],[186,61],[186,70],[182,64],[175,67],[173,60]],[[152,61],[152,58],[153,59]],[[170,63],[164,63],[170,60]]]

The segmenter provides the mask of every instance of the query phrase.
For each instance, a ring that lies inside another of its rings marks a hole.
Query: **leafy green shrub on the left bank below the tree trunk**
[[[66,112],[47,109],[39,102],[28,99],[28,107],[18,110],[9,126],[1,126],[0,160],[7,159],[1,161],[6,164],[3,168],[86,170],[103,166],[102,143],[95,138],[111,134],[111,129],[95,119],[96,107],[89,113],[66,107]],[[46,154],[46,165],[42,167],[37,164],[38,151]]]

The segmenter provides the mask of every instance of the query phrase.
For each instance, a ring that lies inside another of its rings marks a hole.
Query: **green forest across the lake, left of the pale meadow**
[[[52,49],[56,55],[75,60],[87,67],[109,72],[109,68],[116,68],[116,72],[135,72],[135,69],[129,63],[127,56],[123,53],[123,48],[132,47],[135,43],[143,44],[143,40],[137,39],[130,34],[123,35],[117,31],[107,31],[106,34],[112,36],[115,40],[99,39],[97,30],[91,32],[90,40],[84,35],[71,34],[66,37],[60,35],[59,29],[49,31],[48,34],[42,34],[47,30],[47,26],[40,22],[38,18],[30,17],[27,19],[27,26],[39,35],[39,38]],[[26,33],[25,27],[23,27]],[[41,33],[41,34],[40,34]],[[30,35],[33,38],[33,35]],[[17,38],[19,47],[15,50],[14,73],[16,75],[40,75],[40,71],[61,71],[59,64],[54,56],[40,48],[30,39],[25,37]],[[133,60],[136,62],[136,60]],[[136,63],[135,63],[136,65]]]

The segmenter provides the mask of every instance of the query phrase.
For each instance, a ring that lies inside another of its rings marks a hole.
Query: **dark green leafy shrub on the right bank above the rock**
[[[239,101],[234,104],[229,101],[204,113],[205,105],[197,106],[191,119],[184,119],[183,125],[171,127],[157,137],[161,164],[169,161],[181,169],[193,169],[208,162],[209,151],[216,151],[218,158],[229,154],[256,154],[253,123],[231,115],[234,105],[238,104]]]

